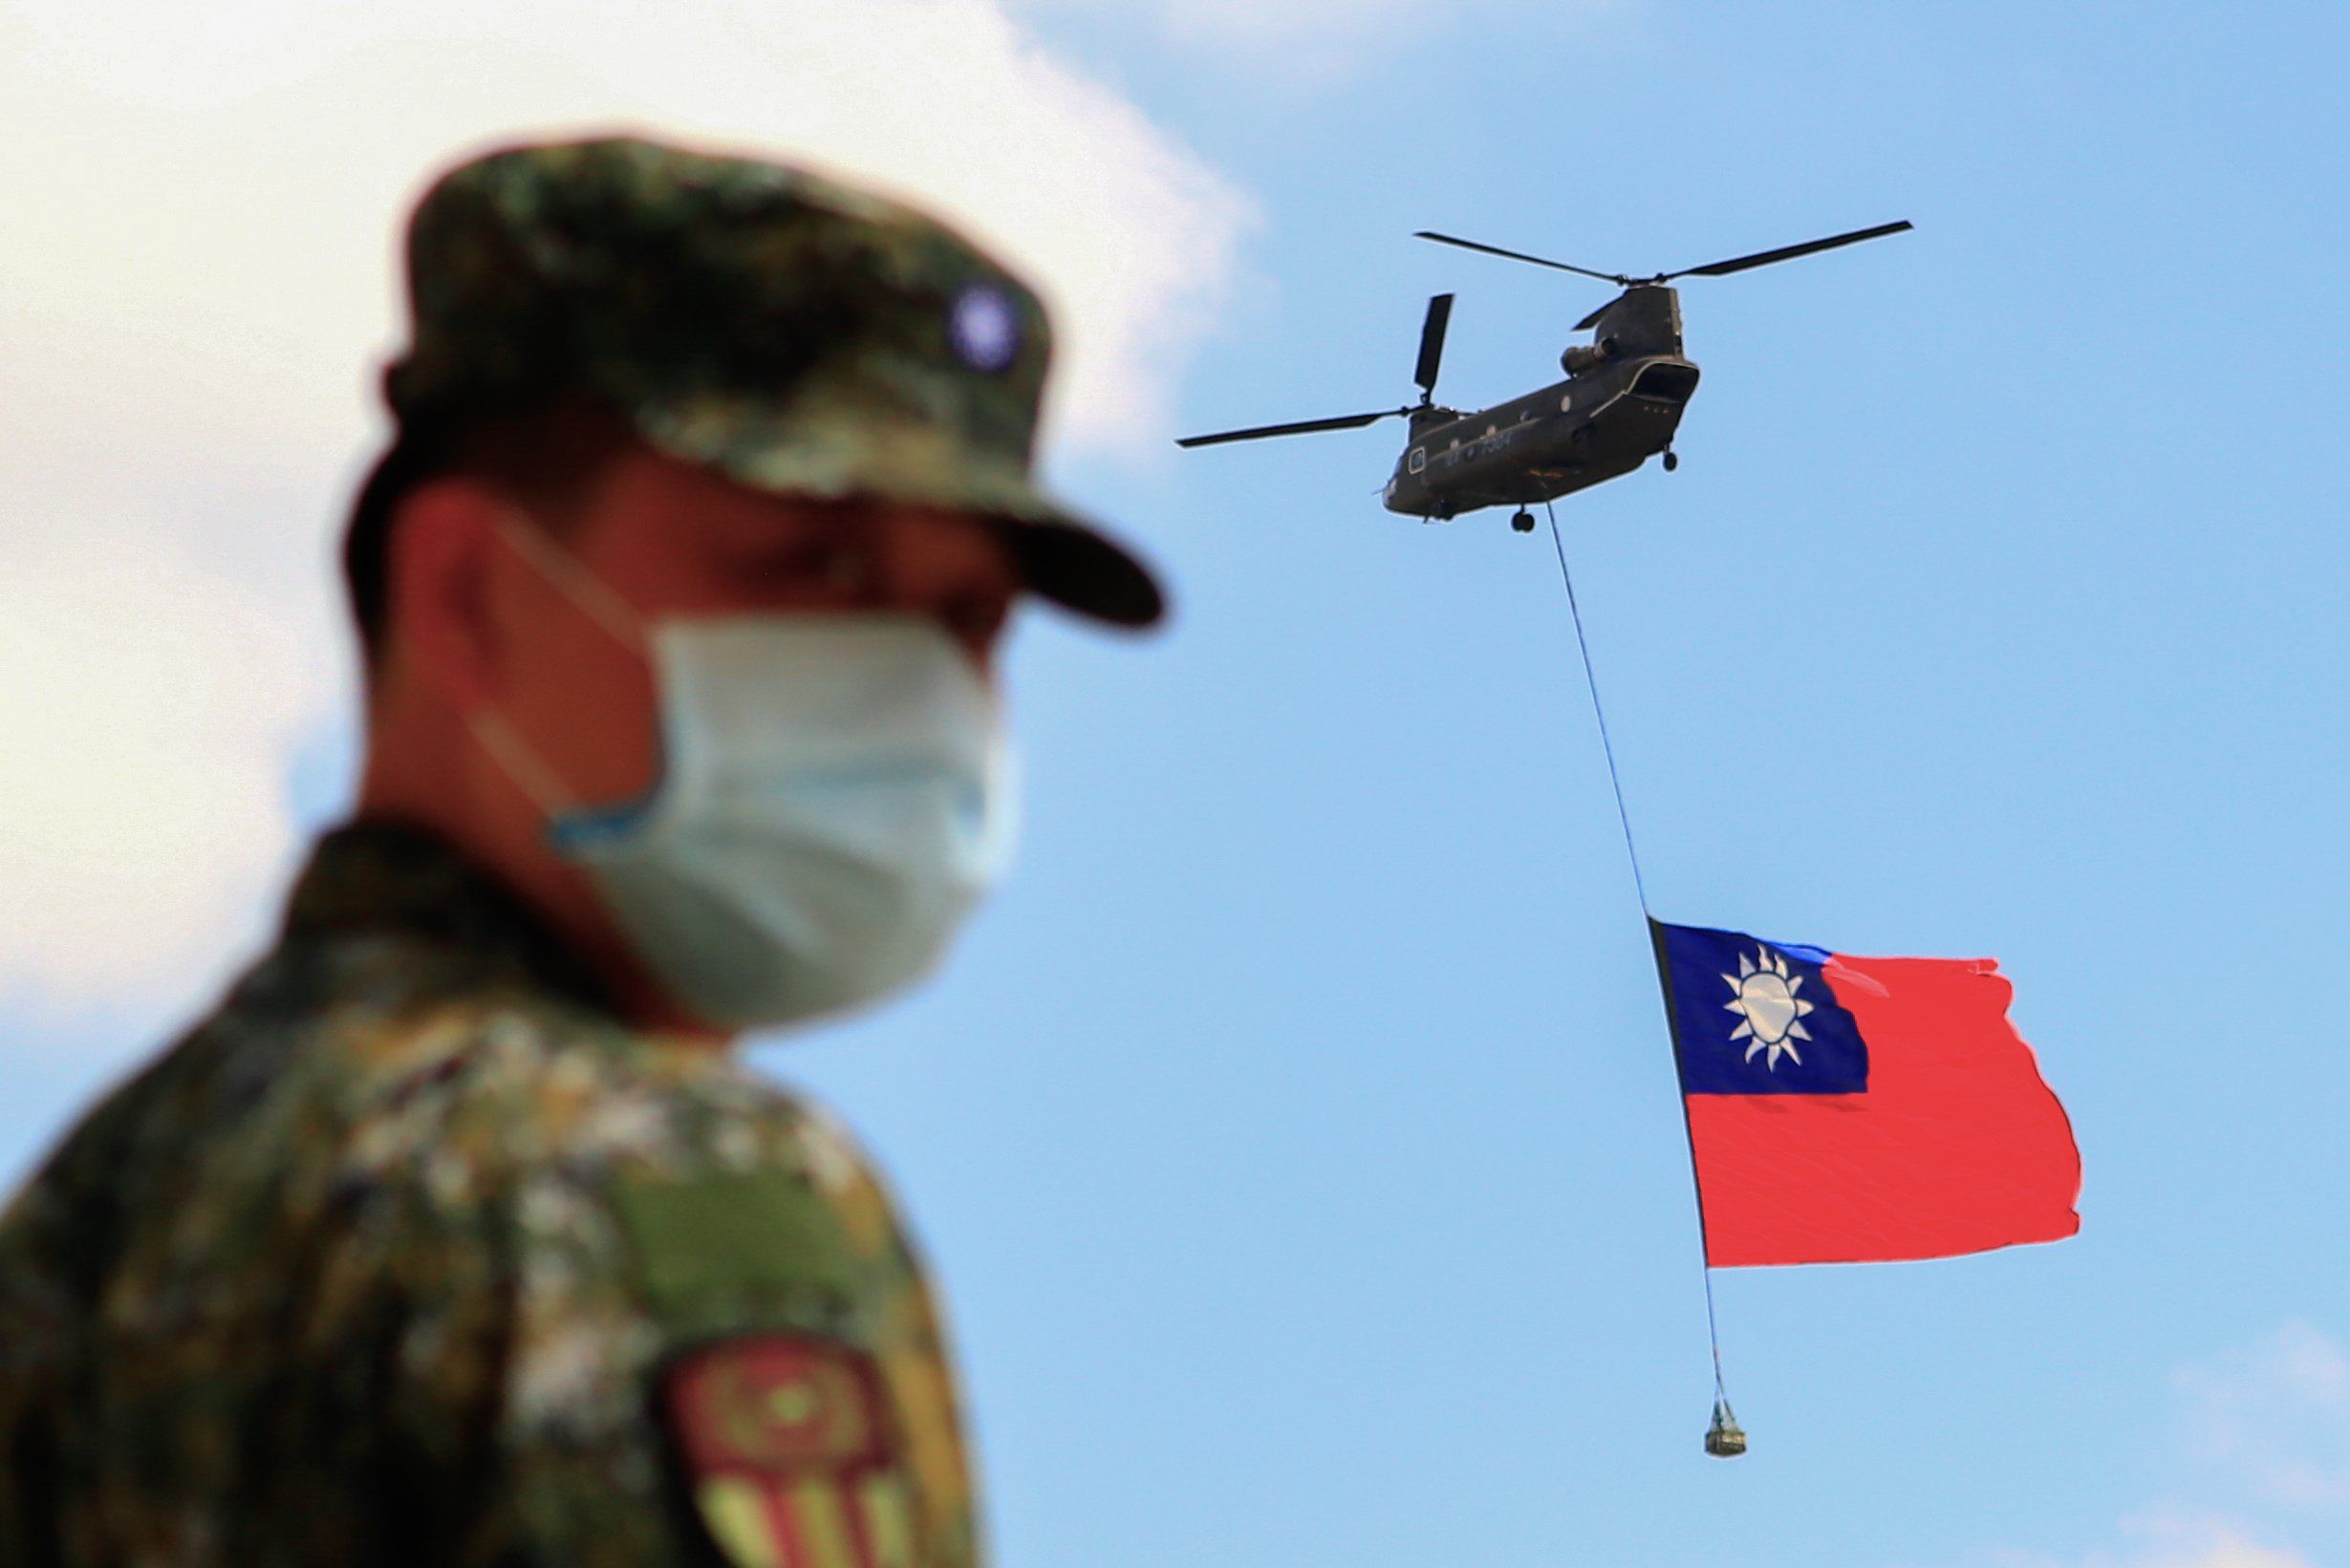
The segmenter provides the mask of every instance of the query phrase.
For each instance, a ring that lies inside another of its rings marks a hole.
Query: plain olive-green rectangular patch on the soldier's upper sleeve
[[[630,1175],[611,1187],[656,1312],[743,1295],[855,1298],[858,1265],[832,1201],[790,1171]]]

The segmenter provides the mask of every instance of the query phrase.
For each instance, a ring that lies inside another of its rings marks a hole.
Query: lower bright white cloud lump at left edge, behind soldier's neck
[[[153,548],[0,574],[0,999],[179,1001],[244,947],[327,689],[287,607]],[[223,952],[226,950],[226,952]]]

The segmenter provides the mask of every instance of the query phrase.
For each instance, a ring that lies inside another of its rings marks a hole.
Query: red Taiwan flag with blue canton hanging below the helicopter
[[[1990,959],[1650,922],[1711,1267],[1948,1258],[2080,1229],[2080,1150]]]

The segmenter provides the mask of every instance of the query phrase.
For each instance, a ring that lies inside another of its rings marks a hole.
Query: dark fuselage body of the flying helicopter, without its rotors
[[[1476,414],[1426,409],[1382,498],[1408,517],[1532,505],[1626,475],[1673,444],[1697,393],[1680,355],[1612,360]]]

